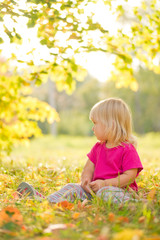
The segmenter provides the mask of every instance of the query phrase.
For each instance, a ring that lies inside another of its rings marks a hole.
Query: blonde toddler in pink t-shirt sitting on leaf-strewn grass
[[[91,200],[93,194],[104,201],[112,199],[114,203],[134,200],[131,192],[138,191],[135,179],[143,166],[136,151],[128,106],[122,99],[105,99],[93,106],[90,119],[98,142],[87,154],[81,184],[69,183],[51,194],[48,196],[51,203],[75,198]],[[45,198],[26,182],[22,182],[17,191],[21,196]]]

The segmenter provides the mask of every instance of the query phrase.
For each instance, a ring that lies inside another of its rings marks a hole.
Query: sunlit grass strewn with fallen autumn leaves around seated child
[[[45,136],[14,149],[0,165],[0,239],[160,239],[160,134],[138,137],[144,170],[137,182],[145,202],[116,205],[94,198],[85,206],[76,201],[70,208],[13,195],[21,181],[44,195],[80,182],[86,153],[95,141],[94,137]]]

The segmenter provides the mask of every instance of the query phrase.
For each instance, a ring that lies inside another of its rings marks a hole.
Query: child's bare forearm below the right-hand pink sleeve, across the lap
[[[94,192],[97,192],[100,188],[105,186],[125,187],[134,182],[137,176],[137,171],[137,168],[133,168],[125,171],[123,174],[119,175],[116,178],[96,180],[94,182],[91,182],[89,185]]]

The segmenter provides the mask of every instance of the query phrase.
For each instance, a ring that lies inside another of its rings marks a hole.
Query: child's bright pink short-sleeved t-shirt
[[[87,156],[95,165],[92,181],[116,178],[119,174],[132,168],[138,168],[138,176],[143,169],[138,153],[130,143],[107,148],[106,143],[97,142]],[[138,190],[135,181],[129,186],[135,191]]]

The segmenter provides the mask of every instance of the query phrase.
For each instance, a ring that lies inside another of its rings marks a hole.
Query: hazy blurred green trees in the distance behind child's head
[[[117,88],[112,78],[99,82],[90,75],[77,84],[72,95],[55,90],[53,97],[60,115],[60,121],[56,123],[57,134],[92,135],[92,123],[88,117],[90,109],[97,101],[107,97],[120,97],[129,104],[135,132],[160,131],[160,75],[139,68],[135,77],[139,85],[136,92],[126,87]],[[33,95],[38,98],[43,96],[48,101],[47,89],[48,84],[34,88]],[[40,124],[40,127],[44,133],[50,133],[47,123]]]

